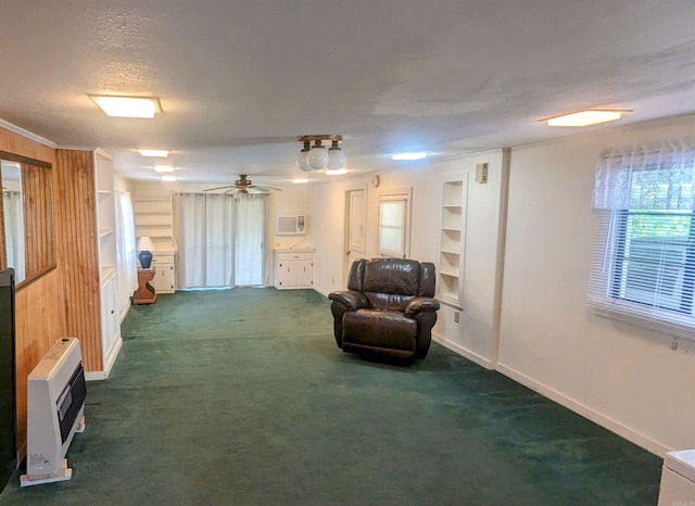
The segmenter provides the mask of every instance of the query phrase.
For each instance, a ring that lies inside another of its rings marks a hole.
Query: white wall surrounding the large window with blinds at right
[[[679,139],[695,118],[515,148],[497,369],[662,454],[695,447],[695,342],[595,316],[585,290],[602,150]]]

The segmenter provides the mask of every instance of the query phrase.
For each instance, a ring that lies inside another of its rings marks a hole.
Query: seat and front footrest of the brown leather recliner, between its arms
[[[415,351],[417,321],[395,311],[358,309],[343,316],[343,346]]]

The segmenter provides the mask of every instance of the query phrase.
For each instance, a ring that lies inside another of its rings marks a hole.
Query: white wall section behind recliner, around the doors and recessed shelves
[[[437,164],[382,173],[378,188],[364,180],[323,185],[312,193],[315,225],[315,289],[324,294],[344,287],[345,191],[367,188],[366,255],[376,256],[378,242],[379,193],[391,188],[413,188],[410,257],[439,265],[439,227],[442,182],[468,178],[468,213],[465,224],[466,253],[464,311],[459,322],[454,309],[442,305],[434,327],[434,339],[485,367],[494,367],[497,352],[495,294],[497,251],[501,248],[500,206],[503,188],[503,152],[477,153]],[[475,182],[476,164],[489,164],[486,184]]]

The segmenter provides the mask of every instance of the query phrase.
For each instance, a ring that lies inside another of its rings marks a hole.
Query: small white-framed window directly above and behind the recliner
[[[407,258],[410,254],[410,190],[379,195],[379,256]]]

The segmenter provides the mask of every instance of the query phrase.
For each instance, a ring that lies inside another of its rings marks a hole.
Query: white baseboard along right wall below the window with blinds
[[[592,409],[591,407],[574,401],[573,399],[568,397],[567,395],[554,390],[543,383],[539,383],[538,381],[529,378],[528,376],[513,369],[511,367],[507,367],[504,364],[497,363],[496,370],[513,379],[514,381],[528,387],[529,389],[540,393],[541,395],[549,399],[551,401],[555,401],[561,406],[571,409],[574,413],[583,416],[584,418],[598,423],[599,426],[608,429],[611,432],[631,441],[637,446],[642,446],[643,448],[664,457],[667,452],[671,452],[672,448],[668,448],[664,446],[661,443],[654,441],[653,439],[637,432],[636,430],[624,426],[623,423],[615,420],[602,413]]]

